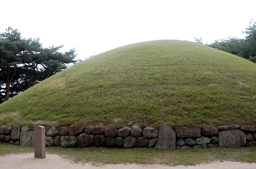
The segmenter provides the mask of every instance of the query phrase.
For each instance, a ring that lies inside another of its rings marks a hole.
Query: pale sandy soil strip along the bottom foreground
[[[27,154],[9,154],[6,156],[0,157],[0,168],[6,169],[6,168],[19,168],[19,169],[29,169],[29,168],[54,168],[54,169],[65,169],[65,168],[77,168],[77,169],[117,169],[117,168],[133,168],[133,169],[151,169],[151,168],[158,168],[158,169],[226,169],[226,168],[232,168],[232,169],[255,169],[256,163],[241,163],[241,162],[212,162],[209,164],[200,164],[195,166],[166,166],[166,165],[141,165],[141,164],[91,164],[91,163],[74,163],[73,161],[62,158],[55,154],[47,154],[47,157],[45,159],[39,159],[34,158],[33,153],[27,153]]]

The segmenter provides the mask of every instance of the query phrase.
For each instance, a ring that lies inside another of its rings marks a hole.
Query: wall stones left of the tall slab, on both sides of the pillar
[[[32,127],[24,126],[21,128],[20,132],[19,127],[14,127],[12,129],[11,126],[1,126],[0,140],[16,145],[33,146],[32,130]],[[15,138],[12,135],[15,135]],[[76,137],[76,135],[78,136]],[[55,128],[49,129],[46,132],[46,145],[62,147],[84,147],[93,145],[96,147],[123,146],[125,148],[131,148],[133,146],[153,147],[156,143],[157,138],[155,137],[157,135],[158,130],[151,127],[144,128],[144,130],[138,126],[133,126],[131,128],[123,127],[117,131],[115,127],[107,127],[105,129],[102,127],[87,127],[83,129],[81,126],[71,126],[60,127],[59,130],[56,130]],[[19,137],[20,143],[18,141]]]

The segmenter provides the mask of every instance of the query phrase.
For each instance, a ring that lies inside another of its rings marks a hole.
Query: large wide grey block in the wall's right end
[[[246,134],[238,129],[221,131],[219,133],[220,147],[239,147],[246,145]]]

